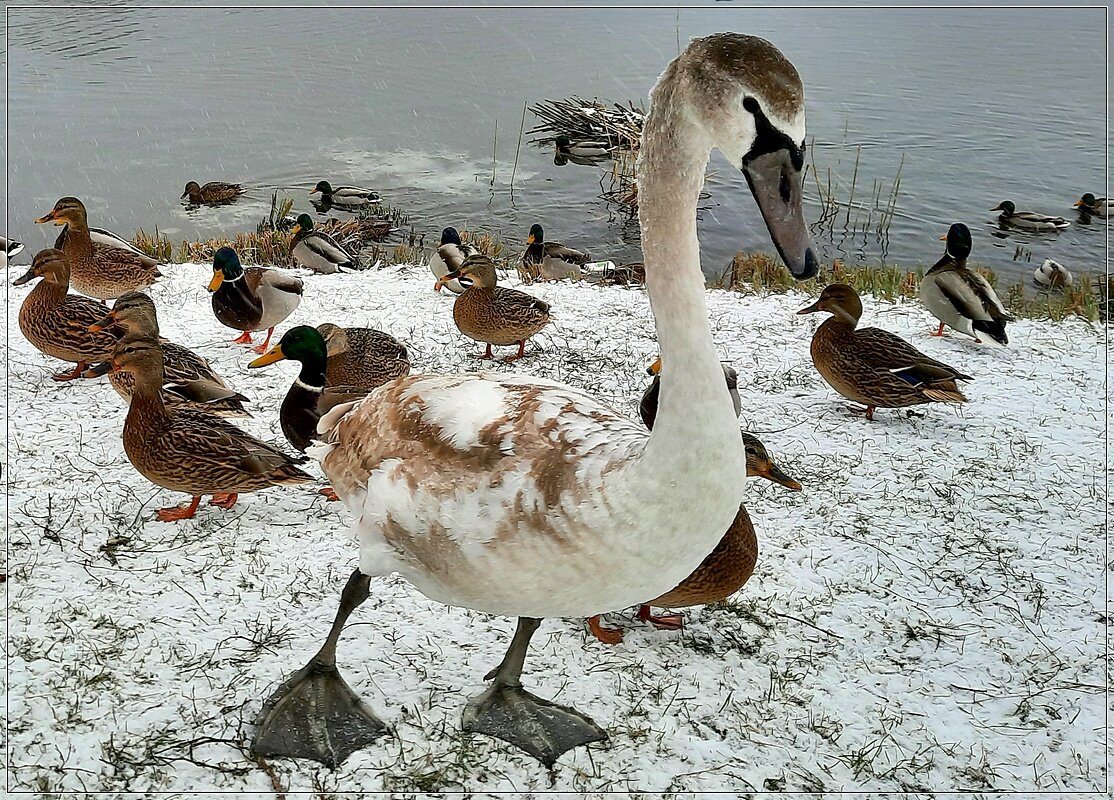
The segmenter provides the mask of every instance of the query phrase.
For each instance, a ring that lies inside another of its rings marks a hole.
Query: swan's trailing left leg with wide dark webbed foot
[[[349,614],[368,599],[370,584],[370,576],[359,569],[352,573],[321,650],[263,703],[255,720],[254,755],[313,759],[336,767],[387,732],[336,671],[336,640]]]

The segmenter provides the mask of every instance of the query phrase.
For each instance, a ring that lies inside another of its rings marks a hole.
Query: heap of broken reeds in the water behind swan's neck
[[[526,135],[537,137],[530,142],[539,145],[553,144],[557,136],[565,135],[570,139],[603,140],[619,149],[637,150],[646,120],[646,113],[635,108],[629,100],[624,107],[579,97],[547,99],[534,104],[530,110],[540,121]]]

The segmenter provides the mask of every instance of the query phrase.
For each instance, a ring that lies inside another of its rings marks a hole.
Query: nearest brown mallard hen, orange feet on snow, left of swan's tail
[[[135,381],[124,421],[124,451],[147,480],[193,496],[188,506],[160,508],[158,519],[189,519],[202,495],[232,508],[238,495],[313,478],[282,450],[248,436],[219,417],[163,402],[163,352],[157,339],[126,336],[113,352],[113,369]]]

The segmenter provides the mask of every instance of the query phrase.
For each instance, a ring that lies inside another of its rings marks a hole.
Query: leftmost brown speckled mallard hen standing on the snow
[[[31,261],[31,269],[12,281],[22,286],[41,277],[23,299],[19,309],[19,330],[40,352],[77,364],[72,372],[59,372],[56,381],[71,381],[92,361],[102,361],[113,353],[116,339],[89,330],[105,315],[100,303],[69,294],[69,262],[61,251],[41,250]]]

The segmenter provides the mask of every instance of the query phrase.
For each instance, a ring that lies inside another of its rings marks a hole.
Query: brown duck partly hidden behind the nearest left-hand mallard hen
[[[154,301],[143,292],[121,294],[113,304],[113,310],[95,324],[90,331],[108,331],[117,339],[134,336],[154,338],[163,349],[163,402],[167,406],[184,403],[190,408],[221,417],[250,417],[243,394],[233,391],[217,374],[209,362],[188,348],[167,341],[159,335],[158,315]],[[108,382],[127,401],[135,391],[135,380],[130,372],[111,371],[111,362],[104,361],[90,367],[84,375],[98,378],[108,374]]]

